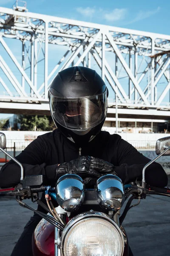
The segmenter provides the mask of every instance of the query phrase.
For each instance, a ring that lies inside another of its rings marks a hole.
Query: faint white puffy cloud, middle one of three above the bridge
[[[111,12],[104,14],[104,19],[107,21],[123,20],[127,13],[127,9],[114,9]]]

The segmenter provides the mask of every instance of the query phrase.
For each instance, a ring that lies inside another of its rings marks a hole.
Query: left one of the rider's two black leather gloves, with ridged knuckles
[[[101,174],[98,170],[91,166],[91,157],[85,156],[80,157],[75,160],[71,160],[68,163],[61,163],[57,166],[56,170],[56,180],[67,173],[77,174],[80,177],[97,177],[99,178]]]

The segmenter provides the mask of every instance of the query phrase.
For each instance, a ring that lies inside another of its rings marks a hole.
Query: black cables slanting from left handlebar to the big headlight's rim
[[[20,204],[20,206],[27,208],[35,213],[37,213],[37,215],[40,215],[40,217],[44,218],[46,221],[48,221],[49,223],[51,223],[52,225],[54,225],[55,227],[57,227],[59,230],[62,230],[65,228],[65,226],[61,223],[59,223],[58,221],[56,221],[53,217],[46,215],[43,212],[39,212],[33,208],[31,208],[30,206],[28,206],[27,204],[23,203],[22,201],[16,199],[17,202]]]

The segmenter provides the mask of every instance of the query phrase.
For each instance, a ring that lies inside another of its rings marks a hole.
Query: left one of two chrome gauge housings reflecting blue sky
[[[79,175],[66,174],[57,180],[56,200],[66,212],[79,209],[85,198],[85,185]]]

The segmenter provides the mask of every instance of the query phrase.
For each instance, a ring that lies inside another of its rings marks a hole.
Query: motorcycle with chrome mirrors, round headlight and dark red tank
[[[42,217],[32,238],[34,256],[128,256],[128,238],[122,223],[129,209],[147,195],[170,196],[170,188],[149,186],[144,179],[151,163],[162,155],[170,155],[170,137],[157,140],[158,156],[144,166],[142,182],[123,185],[119,177],[108,174],[96,181],[94,189],[86,189],[82,178],[74,174],[60,177],[55,187],[46,186],[43,175],[24,177],[22,164],[5,148],[6,136],[0,133],[0,150],[20,166],[21,178],[17,187],[0,189],[0,196],[15,196],[20,206]],[[40,201],[40,192],[44,192],[47,205]],[[48,213],[23,202],[29,198]],[[138,202],[131,205],[134,199]],[[59,206],[54,207],[54,202]]]

